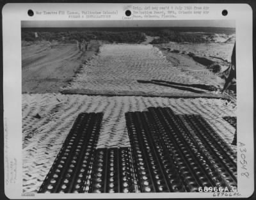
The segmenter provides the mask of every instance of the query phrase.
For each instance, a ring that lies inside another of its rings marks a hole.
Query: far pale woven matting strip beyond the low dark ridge
[[[203,75],[202,75],[203,76]],[[152,45],[102,45],[100,52],[83,65],[76,77],[61,88],[64,94],[144,95],[144,96],[214,96],[137,80],[163,80],[187,84],[214,84],[188,74],[168,61],[161,50]]]

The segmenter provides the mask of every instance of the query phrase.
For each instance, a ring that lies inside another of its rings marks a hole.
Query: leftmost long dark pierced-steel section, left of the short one
[[[102,116],[102,113],[79,114],[39,193],[84,192]]]

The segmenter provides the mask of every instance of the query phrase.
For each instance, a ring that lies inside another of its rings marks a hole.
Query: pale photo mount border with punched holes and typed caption
[[[35,194],[22,196],[22,97],[21,97],[21,21],[26,20],[76,20],[61,15],[28,16],[28,10],[118,10],[111,20],[124,19],[125,8],[141,4],[70,4],[70,3],[8,3],[3,8],[3,97],[4,97],[4,184],[5,194],[10,199],[100,199],[100,198],[205,198],[212,193],[150,193],[150,194]],[[171,5],[171,4],[147,4]],[[172,6],[184,4],[172,4]],[[195,4],[188,4],[194,6]],[[204,20],[236,20],[236,61],[237,61],[237,174],[238,192],[250,197],[254,190],[254,149],[253,149],[253,52],[252,52],[252,8],[248,4],[200,4],[209,6],[211,13]],[[228,15],[221,15],[222,10]],[[77,19],[81,20],[81,19]],[[92,19],[90,19],[92,20]],[[97,19],[93,19],[97,20]],[[100,19],[102,20],[102,19]],[[108,19],[104,19],[108,20]],[[145,20],[145,19],[142,19]],[[154,19],[157,20],[157,19]],[[163,19],[161,19],[163,20]],[[202,20],[202,16],[180,15],[165,20]],[[134,20],[136,24],[137,20]],[[15,147],[15,148],[13,148]],[[246,163],[246,164],[245,164]],[[10,173],[15,179],[10,180]],[[249,176],[246,176],[248,173]],[[219,196],[221,197],[221,196]],[[223,196],[222,196],[223,197]]]

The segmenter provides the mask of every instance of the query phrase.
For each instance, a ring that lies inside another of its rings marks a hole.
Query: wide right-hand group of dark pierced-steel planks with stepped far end
[[[141,192],[237,186],[236,154],[204,118],[148,110],[125,115]]]

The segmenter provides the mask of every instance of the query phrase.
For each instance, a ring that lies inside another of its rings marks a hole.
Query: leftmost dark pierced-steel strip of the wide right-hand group
[[[184,192],[175,165],[164,155],[156,130],[148,127],[147,114],[125,114],[140,192]]]

